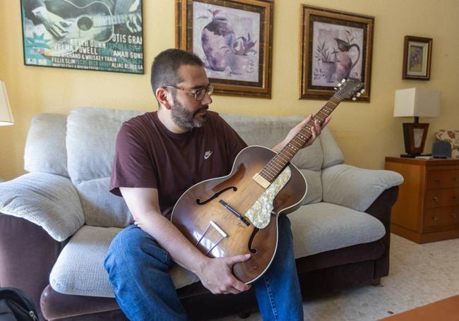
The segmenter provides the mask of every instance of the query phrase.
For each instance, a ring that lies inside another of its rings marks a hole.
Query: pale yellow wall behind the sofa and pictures
[[[298,100],[299,6],[310,4],[375,17],[371,102],[345,102],[330,128],[348,164],[383,168],[388,155],[403,153],[403,121],[394,119],[394,90],[427,87],[442,91],[441,117],[430,123],[424,152],[439,128],[458,128],[454,95],[459,83],[457,0],[275,0],[272,99],[215,96],[222,113],[291,115],[314,113],[323,101]],[[145,70],[153,57],[174,46],[174,1],[143,0]],[[403,37],[431,37],[431,80],[402,80]],[[0,176],[23,174],[23,150],[32,116],[67,114],[75,107],[155,109],[149,72],[145,75],[23,66],[19,1],[0,1],[0,78],[6,83],[15,125],[0,127]]]

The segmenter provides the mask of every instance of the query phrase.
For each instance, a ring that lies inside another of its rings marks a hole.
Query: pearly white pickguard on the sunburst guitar
[[[290,167],[287,166],[268,188],[261,194],[249,210],[244,214],[249,221],[258,229],[264,229],[268,226],[273,212],[273,201],[276,195],[282,190],[292,176]]]

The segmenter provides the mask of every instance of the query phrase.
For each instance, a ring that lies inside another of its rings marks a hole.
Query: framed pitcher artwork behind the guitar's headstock
[[[369,102],[374,17],[302,5],[299,98],[329,99],[342,79],[357,78]]]

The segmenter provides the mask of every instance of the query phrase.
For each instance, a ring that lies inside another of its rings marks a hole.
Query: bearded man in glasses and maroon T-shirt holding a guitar
[[[105,268],[129,319],[185,320],[167,273],[174,262],[194,272],[212,293],[240,293],[251,287],[231,272],[232,265],[250,255],[208,258],[168,219],[187,188],[227,175],[246,144],[218,114],[208,111],[213,85],[195,54],[179,49],[160,53],[153,62],[151,83],[158,111],[126,121],[117,137],[110,189],[123,196],[135,224],[114,238]],[[279,152],[311,116],[273,150]],[[306,145],[328,121],[315,124]],[[278,222],[273,263],[253,283],[258,305],[264,320],[303,320],[290,221],[282,216]]]

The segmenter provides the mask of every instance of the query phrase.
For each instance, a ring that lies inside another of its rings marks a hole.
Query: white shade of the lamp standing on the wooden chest
[[[439,90],[408,88],[395,90],[394,117],[438,117],[440,116]]]

